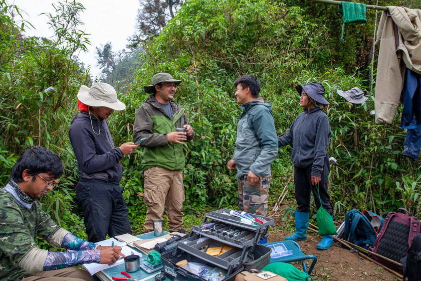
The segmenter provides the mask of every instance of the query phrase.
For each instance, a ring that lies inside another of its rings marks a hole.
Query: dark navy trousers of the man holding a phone
[[[81,179],[76,185],[76,201],[83,210],[89,242],[105,240],[107,234],[131,234],[129,212],[118,184]]]

